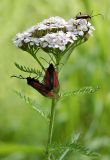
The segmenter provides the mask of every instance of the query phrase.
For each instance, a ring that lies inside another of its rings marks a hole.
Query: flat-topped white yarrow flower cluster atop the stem
[[[52,50],[63,52],[78,40],[92,35],[93,30],[94,27],[87,19],[72,18],[65,21],[61,17],[51,17],[25,32],[18,33],[13,42],[23,50],[32,46],[47,52]]]

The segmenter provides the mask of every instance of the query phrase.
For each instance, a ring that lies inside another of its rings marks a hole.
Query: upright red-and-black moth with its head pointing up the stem
[[[57,92],[59,89],[58,75],[52,63],[45,71],[44,84],[50,90],[54,90],[55,92]]]

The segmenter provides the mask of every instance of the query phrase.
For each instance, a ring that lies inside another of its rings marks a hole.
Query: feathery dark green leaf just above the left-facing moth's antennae
[[[36,70],[35,68],[29,68],[23,65],[19,65],[18,63],[15,62],[15,66],[23,71],[23,72],[27,72],[27,73],[32,73],[32,74],[36,74],[38,77],[42,76],[42,72],[40,70]]]

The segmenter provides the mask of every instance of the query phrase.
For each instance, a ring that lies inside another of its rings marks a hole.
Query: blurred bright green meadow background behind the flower
[[[21,74],[14,62],[36,66],[35,60],[12,44],[15,34],[51,16],[66,20],[78,12],[101,13],[91,22],[96,30],[86,43],[72,53],[61,72],[62,90],[97,85],[94,94],[70,97],[58,104],[53,140],[67,141],[81,132],[83,143],[110,160],[110,1],[109,0],[0,0],[0,160],[42,160],[48,124],[13,90],[21,90],[50,111],[50,100],[27,86],[25,81],[10,78]],[[68,160],[88,160],[71,154]]]

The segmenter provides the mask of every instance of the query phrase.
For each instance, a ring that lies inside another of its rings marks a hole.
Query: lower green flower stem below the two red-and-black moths
[[[56,99],[52,99],[48,142],[47,142],[47,151],[46,151],[47,160],[51,160],[51,153],[49,153],[49,147],[52,144],[53,125],[54,125],[54,117],[55,117],[55,105],[56,105]]]

